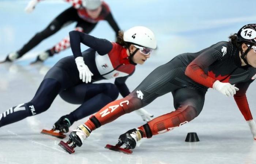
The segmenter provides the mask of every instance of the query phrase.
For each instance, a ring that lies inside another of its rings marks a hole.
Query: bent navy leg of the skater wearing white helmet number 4
[[[103,106],[114,101],[118,97],[118,94],[116,85],[112,83],[80,84],[71,89],[64,90],[60,93],[61,98],[67,102],[82,105],[70,114],[62,116],[56,123],[68,123],[68,126],[64,127],[69,127],[75,121],[98,112]],[[62,126],[58,125],[58,127]],[[66,131],[68,131],[67,128]]]

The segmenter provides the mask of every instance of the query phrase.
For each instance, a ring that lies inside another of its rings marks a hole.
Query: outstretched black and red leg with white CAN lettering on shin
[[[85,124],[94,130],[101,125],[112,122],[123,114],[130,113],[150,104],[155,98],[177,89],[174,81],[176,74],[172,71],[173,64],[167,63],[155,69],[127,97],[113,101],[90,117]]]

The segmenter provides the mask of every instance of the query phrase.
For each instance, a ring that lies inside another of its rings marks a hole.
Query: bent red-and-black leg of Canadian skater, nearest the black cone
[[[143,137],[168,132],[197,117],[203,109],[205,92],[191,88],[181,88],[172,92],[176,110],[156,117],[140,126]]]

